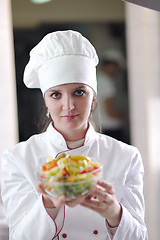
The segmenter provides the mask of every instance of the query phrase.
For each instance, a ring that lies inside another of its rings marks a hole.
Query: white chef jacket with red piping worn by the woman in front
[[[122,205],[122,217],[112,236],[105,219],[80,205],[63,206],[55,219],[37,192],[36,169],[47,157],[59,153],[85,155],[103,164],[103,179],[113,184]],[[2,156],[2,200],[10,228],[10,240],[147,240],[144,223],[143,164],[138,150],[94,131],[90,125],[81,147],[69,149],[67,142],[49,125],[4,152]]]

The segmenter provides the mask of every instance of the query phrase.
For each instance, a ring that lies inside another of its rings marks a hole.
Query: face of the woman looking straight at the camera
[[[72,133],[82,135],[86,131],[94,100],[89,86],[81,83],[59,85],[48,89],[44,98],[55,128],[64,136]]]

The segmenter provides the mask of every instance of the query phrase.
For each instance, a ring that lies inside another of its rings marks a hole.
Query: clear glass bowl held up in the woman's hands
[[[89,171],[83,170],[78,174],[60,176],[60,171],[62,170],[60,169],[56,175],[51,175],[51,170],[43,171],[43,167],[41,167],[39,179],[43,183],[44,190],[54,198],[65,195],[67,201],[71,201],[79,196],[87,196],[89,191],[96,187],[102,169],[100,164],[98,167],[94,167],[98,163],[94,159],[88,157],[87,159],[93,163],[93,169]],[[90,162],[88,163],[90,164]]]

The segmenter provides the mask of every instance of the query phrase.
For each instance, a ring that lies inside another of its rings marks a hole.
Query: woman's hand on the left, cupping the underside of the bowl
[[[67,201],[66,196],[53,198],[45,192],[42,183],[38,185],[38,192],[41,192],[43,194],[43,203],[46,208],[60,208],[63,205],[74,207],[84,200],[84,197],[81,196],[71,201]]]

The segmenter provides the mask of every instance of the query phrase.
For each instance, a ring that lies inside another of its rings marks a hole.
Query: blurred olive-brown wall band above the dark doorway
[[[52,0],[33,4],[30,0],[12,0],[13,24],[28,27],[40,22],[106,22],[124,20],[120,0]]]

